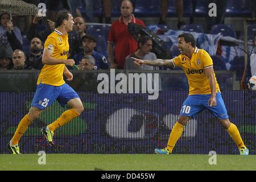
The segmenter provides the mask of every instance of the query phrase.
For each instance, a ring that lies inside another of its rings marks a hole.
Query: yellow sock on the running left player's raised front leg
[[[55,122],[48,125],[48,129],[51,131],[56,130],[58,127],[65,125],[73,118],[78,117],[80,114],[75,109],[66,110],[64,113],[61,114],[59,118],[56,119]]]

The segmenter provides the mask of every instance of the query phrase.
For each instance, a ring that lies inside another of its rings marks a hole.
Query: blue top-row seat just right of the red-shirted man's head
[[[155,0],[136,1],[134,15],[139,17],[160,16],[160,1],[155,1]]]

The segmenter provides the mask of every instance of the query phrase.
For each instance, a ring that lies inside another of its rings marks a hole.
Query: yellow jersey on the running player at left
[[[55,29],[55,31],[47,37],[44,43],[44,49],[52,51],[51,56],[56,59],[67,59],[69,51],[68,34],[64,35]],[[40,72],[37,84],[63,85],[65,83],[63,80],[64,67],[65,64],[45,64]]]

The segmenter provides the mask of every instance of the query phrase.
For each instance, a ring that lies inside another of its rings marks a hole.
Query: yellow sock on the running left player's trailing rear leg
[[[25,133],[28,125],[30,125],[31,122],[32,120],[30,119],[30,117],[28,117],[27,114],[22,118],[22,120],[20,120],[18,128],[16,129],[13,138],[11,139],[11,144],[13,146],[19,143],[19,139]]]

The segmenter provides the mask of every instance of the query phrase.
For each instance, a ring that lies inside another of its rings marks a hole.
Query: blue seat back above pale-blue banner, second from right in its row
[[[233,24],[216,24],[210,29],[210,34],[222,33],[223,36],[237,38]]]

